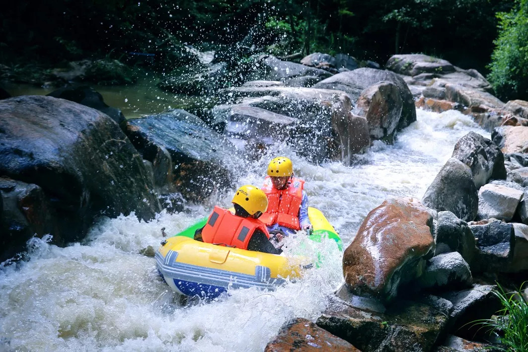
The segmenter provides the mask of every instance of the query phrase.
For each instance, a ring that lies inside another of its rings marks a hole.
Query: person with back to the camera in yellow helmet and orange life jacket
[[[250,251],[280,254],[269,241],[266,225],[258,218],[268,208],[268,198],[261,189],[251,185],[240,187],[231,201],[235,213],[215,206],[207,223],[196,230],[194,239]]]

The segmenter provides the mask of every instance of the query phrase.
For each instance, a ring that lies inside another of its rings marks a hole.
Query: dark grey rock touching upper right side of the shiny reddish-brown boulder
[[[451,212],[438,212],[435,254],[458,252],[469,264],[475,256],[475,237],[467,223]]]

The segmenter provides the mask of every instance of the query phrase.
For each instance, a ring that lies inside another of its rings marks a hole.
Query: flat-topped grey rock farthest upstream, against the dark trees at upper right
[[[392,55],[385,68],[396,73],[416,76],[420,73],[454,72],[455,68],[449,61],[433,58],[422,54]]]

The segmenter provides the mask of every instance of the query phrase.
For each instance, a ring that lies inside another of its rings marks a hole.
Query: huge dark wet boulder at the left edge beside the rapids
[[[68,100],[21,96],[0,101],[0,175],[42,188],[59,229],[75,241],[93,218],[161,210],[143,160],[117,123]]]

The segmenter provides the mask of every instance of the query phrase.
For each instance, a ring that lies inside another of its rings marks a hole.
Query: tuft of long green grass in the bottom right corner
[[[516,292],[506,292],[500,285],[493,293],[502,303],[499,315],[494,319],[476,321],[498,336],[503,351],[528,351],[528,298],[522,286]]]

